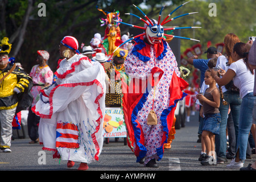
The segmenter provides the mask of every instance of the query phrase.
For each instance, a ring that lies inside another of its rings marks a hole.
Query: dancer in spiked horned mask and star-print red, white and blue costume
[[[120,22],[144,30],[143,34],[126,40],[126,42],[134,40],[135,44],[125,60],[125,69],[130,82],[123,82],[122,106],[127,127],[127,144],[137,156],[137,162],[146,167],[157,168],[159,166],[156,160],[163,158],[163,144],[167,143],[172,128],[176,104],[187,95],[182,90],[187,88],[188,83],[180,78],[174,53],[163,39],[166,35],[164,30],[175,29],[162,26],[169,21],[166,19],[170,15],[160,24],[163,8],[159,13],[158,21],[149,19],[142,10],[138,7],[137,9],[147,20],[137,15],[130,15],[142,20],[144,27]]]

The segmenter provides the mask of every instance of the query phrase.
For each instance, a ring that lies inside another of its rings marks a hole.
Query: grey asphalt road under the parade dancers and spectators
[[[196,143],[198,122],[197,117],[192,117],[191,122],[180,130],[176,130],[175,140],[172,142],[170,150],[164,151],[163,159],[158,162],[159,168],[146,168],[142,164],[136,163],[135,155],[128,146],[123,143],[123,138],[118,142],[110,139],[109,144],[104,143],[100,160],[89,164],[88,171],[98,171],[102,174],[114,171],[133,172],[166,172],[166,171],[238,171],[238,169],[228,169],[226,164],[217,166],[202,166],[198,161],[201,144]],[[10,153],[0,151],[0,173],[1,171],[76,171],[79,163],[73,168],[67,168],[66,161],[55,160],[51,152],[42,151],[39,144],[28,144],[30,139],[15,139],[11,143]],[[44,153],[45,152],[45,153]],[[41,160],[46,154],[45,163]],[[247,159],[245,166],[253,163],[256,155],[252,159]],[[229,160],[230,162],[230,160]]]

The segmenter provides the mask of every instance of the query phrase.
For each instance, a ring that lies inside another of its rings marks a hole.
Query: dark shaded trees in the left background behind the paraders
[[[179,2],[175,0],[174,2]],[[22,63],[27,72],[35,65],[36,51],[46,49],[50,53],[49,66],[55,71],[59,59],[59,42],[65,35],[75,36],[79,43],[89,44],[93,35],[99,32],[102,36],[105,27],[100,26],[104,14],[97,7],[113,12],[119,10],[121,18],[126,21],[135,5],[142,1],[109,1],[109,0],[1,0],[0,2],[0,38],[7,36],[13,48],[10,56]],[[156,2],[144,1],[155,6]],[[46,16],[39,17],[39,3],[46,4]],[[151,11],[152,12],[152,11]],[[122,30],[122,28],[121,28]],[[122,31],[125,32],[125,31]]]

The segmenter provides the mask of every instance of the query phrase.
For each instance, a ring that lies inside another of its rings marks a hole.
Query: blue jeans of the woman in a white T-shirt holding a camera
[[[243,97],[241,104],[237,150],[239,148],[239,158],[242,161],[246,159],[246,148],[251,125],[253,123],[253,106],[255,99],[256,97],[253,96],[253,92],[247,93],[246,96]]]

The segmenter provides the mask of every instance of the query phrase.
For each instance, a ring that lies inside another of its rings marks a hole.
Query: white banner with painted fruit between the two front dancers
[[[103,129],[105,138],[126,137],[125,121],[120,107],[106,107]]]

